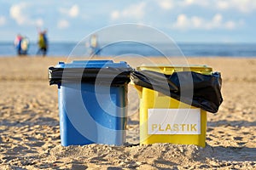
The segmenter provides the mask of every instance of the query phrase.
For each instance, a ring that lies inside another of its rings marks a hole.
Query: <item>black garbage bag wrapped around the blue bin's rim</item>
[[[49,67],[49,85],[63,82],[86,82],[121,86],[130,82],[131,68],[55,68]],[[111,82],[110,82],[111,81]]]

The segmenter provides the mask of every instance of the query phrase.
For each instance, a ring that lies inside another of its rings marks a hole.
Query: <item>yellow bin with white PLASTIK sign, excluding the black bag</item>
[[[211,75],[207,65],[143,65],[137,71],[172,75],[194,71]],[[206,146],[207,111],[187,105],[165,94],[135,85],[140,96],[140,144],[172,143]]]

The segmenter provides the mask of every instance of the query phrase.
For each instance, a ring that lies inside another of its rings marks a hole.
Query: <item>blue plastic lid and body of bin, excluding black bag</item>
[[[126,64],[113,63],[109,60],[90,60],[56,65],[60,68],[83,66],[106,68],[125,67]],[[61,145],[93,143],[123,145],[127,83],[111,87],[87,82],[79,83],[78,85],[78,82],[65,82],[58,86]],[[100,89],[100,92],[96,89]]]

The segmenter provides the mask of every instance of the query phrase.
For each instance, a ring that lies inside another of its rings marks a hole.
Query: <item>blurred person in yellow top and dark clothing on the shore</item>
[[[48,39],[47,39],[47,30],[38,31],[38,52],[37,54],[47,54],[48,49]]]

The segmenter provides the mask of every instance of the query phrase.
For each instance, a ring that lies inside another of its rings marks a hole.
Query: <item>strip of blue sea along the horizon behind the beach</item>
[[[88,55],[90,48],[84,43],[77,45],[74,42],[49,43],[49,56],[66,57],[69,54]],[[177,43],[177,47],[159,43],[154,47],[143,43],[119,42],[102,45],[100,55],[116,56],[122,54],[138,54],[143,56],[177,56],[184,54],[186,57],[256,57],[256,43]],[[74,50],[73,50],[74,49]],[[180,49],[182,53],[177,52]],[[28,55],[37,54],[38,46],[31,43]],[[0,57],[15,56],[16,51],[12,42],[0,42]]]

